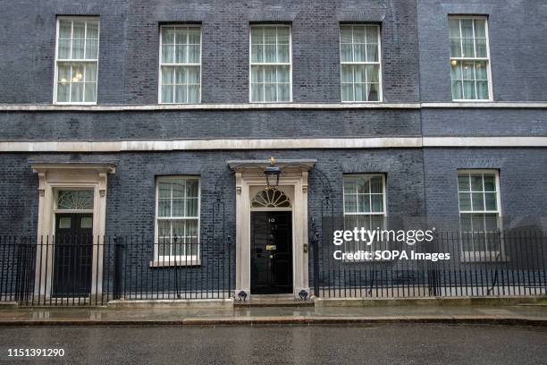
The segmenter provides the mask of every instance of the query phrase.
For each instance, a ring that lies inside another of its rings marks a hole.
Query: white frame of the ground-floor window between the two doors
[[[172,182],[174,180],[181,179],[190,179],[198,180],[198,216],[197,217],[164,217],[160,218],[158,216],[159,208],[159,183]],[[173,219],[198,219],[198,250],[192,255],[170,255],[170,256],[159,256],[158,250],[158,225],[157,222],[161,219],[173,220]],[[201,265],[200,262],[200,253],[201,253],[201,240],[200,240],[200,225],[201,225],[201,178],[196,175],[169,175],[169,176],[157,176],[156,177],[156,214],[154,216],[154,260],[150,262],[151,267],[164,267],[164,266],[198,266]]]

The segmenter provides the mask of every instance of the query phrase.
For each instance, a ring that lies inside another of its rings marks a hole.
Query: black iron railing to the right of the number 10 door
[[[359,246],[352,242],[337,246],[327,231],[311,242],[316,296],[410,298],[547,293],[544,232],[439,232],[434,233],[433,241],[414,245],[374,242]],[[347,255],[345,259],[334,258],[340,258],[341,252],[358,250],[370,251],[368,257],[373,259],[348,259]],[[397,257],[389,258],[386,253],[383,258],[374,258],[375,250],[395,251]],[[450,259],[439,259],[440,254],[448,254]]]

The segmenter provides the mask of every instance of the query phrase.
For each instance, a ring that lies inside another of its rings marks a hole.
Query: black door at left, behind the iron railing
[[[90,293],[93,259],[93,215],[55,215],[53,295],[83,296]]]

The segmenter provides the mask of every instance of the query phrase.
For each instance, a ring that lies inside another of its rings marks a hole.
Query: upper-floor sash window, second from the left
[[[162,26],[159,102],[197,104],[201,101],[201,29]]]

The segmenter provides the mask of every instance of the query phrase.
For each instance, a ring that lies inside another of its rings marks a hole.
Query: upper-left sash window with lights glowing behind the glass
[[[54,102],[97,103],[99,21],[57,19]]]

